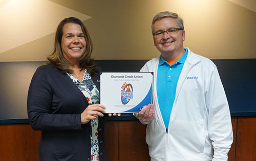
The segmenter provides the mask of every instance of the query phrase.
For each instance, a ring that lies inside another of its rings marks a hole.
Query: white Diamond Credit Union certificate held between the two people
[[[152,103],[153,73],[109,73],[100,75],[100,103],[106,113],[140,112],[144,105]]]

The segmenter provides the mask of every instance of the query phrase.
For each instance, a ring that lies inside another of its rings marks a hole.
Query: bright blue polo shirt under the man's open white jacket
[[[187,58],[187,49],[184,49],[186,51],[183,56],[173,65],[169,65],[162,56],[160,56],[158,64],[157,97],[166,130],[168,130],[170,112],[172,111],[174,104],[178,79]]]

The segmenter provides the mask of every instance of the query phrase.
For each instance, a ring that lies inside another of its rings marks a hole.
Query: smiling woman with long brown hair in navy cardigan
[[[99,104],[99,70],[91,59],[92,41],[83,23],[63,19],[54,51],[37,68],[28,93],[28,116],[41,130],[41,160],[106,160]]]

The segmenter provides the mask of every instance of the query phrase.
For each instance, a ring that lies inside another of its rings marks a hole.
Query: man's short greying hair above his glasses
[[[155,22],[160,20],[160,19],[162,19],[162,18],[166,18],[166,17],[173,17],[173,18],[175,18],[177,23],[178,23],[178,25],[179,25],[179,27],[180,27],[180,29],[184,30],[184,25],[183,25],[182,18],[179,17],[179,15],[177,13],[165,11],[165,12],[159,12],[153,18],[153,21],[152,21],[152,24],[151,24],[152,34],[154,33],[154,24],[155,24]]]

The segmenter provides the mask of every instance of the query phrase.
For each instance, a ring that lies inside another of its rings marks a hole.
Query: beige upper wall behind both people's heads
[[[57,24],[69,16],[86,24],[95,59],[152,59],[159,55],[152,18],[166,10],[184,19],[184,45],[192,51],[210,59],[256,58],[256,1],[238,5],[235,0],[23,0],[23,5],[11,8],[16,2],[0,3],[0,19],[5,19],[0,34],[6,35],[0,38],[0,61],[45,60],[53,49]]]

